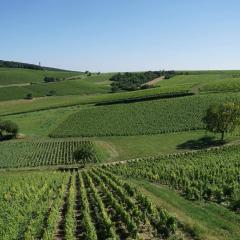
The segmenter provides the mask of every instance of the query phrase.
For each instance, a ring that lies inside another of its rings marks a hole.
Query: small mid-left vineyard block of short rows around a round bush
[[[82,145],[93,147],[96,156],[81,163],[100,162],[105,157],[93,142],[81,139],[11,141],[0,143],[0,168],[76,164],[73,153]]]

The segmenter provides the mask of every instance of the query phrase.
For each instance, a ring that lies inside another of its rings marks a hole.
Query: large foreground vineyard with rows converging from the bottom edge
[[[1,239],[150,240],[175,235],[176,221],[166,210],[103,169],[10,173],[0,181]]]

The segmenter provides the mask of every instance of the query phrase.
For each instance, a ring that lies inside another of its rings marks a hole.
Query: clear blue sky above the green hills
[[[239,0],[1,0],[0,59],[65,69],[240,69]]]

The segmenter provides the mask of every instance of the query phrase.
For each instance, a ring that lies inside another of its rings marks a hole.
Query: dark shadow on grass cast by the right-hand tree
[[[177,145],[177,149],[204,149],[214,146],[223,145],[225,141],[215,140],[215,137],[204,136],[199,139],[188,140],[184,143]]]

